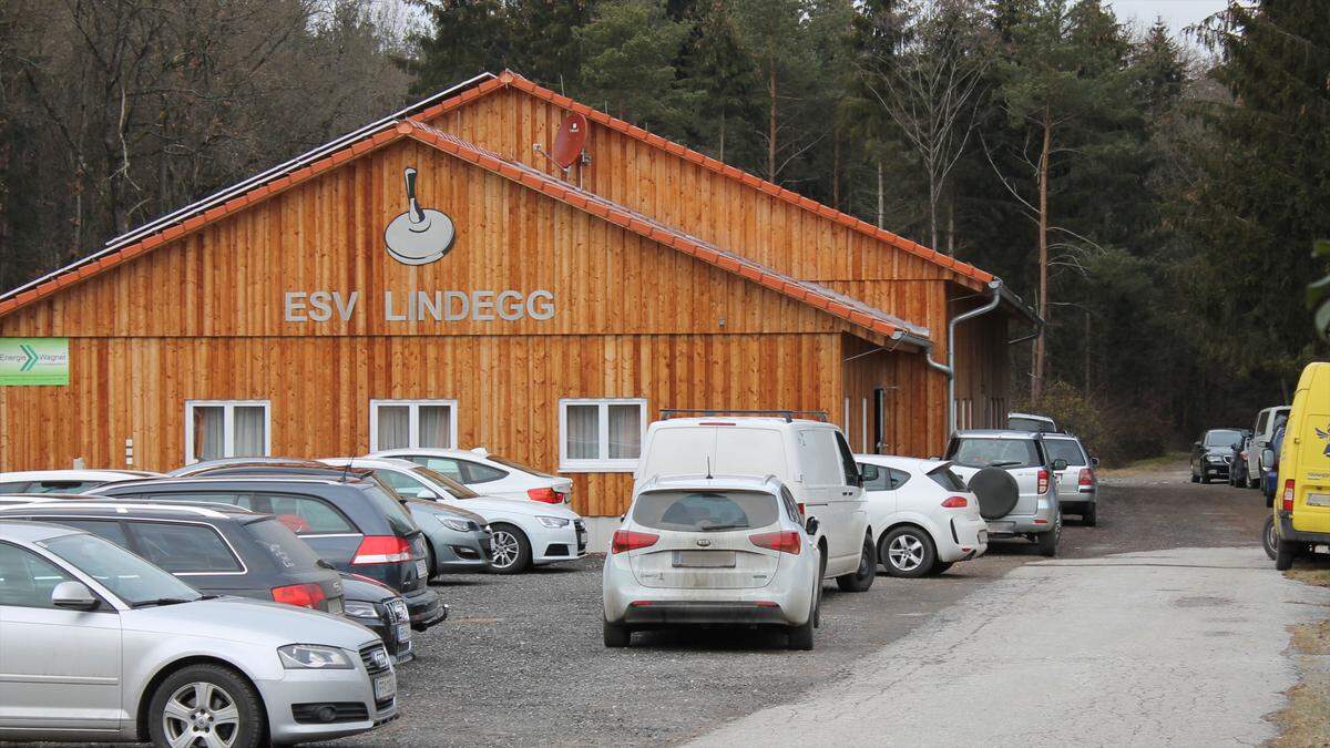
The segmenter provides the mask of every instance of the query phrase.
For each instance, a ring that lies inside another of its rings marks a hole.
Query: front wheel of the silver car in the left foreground
[[[203,701],[201,704],[201,701]],[[172,713],[166,708],[176,707]],[[206,709],[207,720],[198,737],[211,735],[230,743],[231,748],[257,748],[267,744],[267,717],[258,691],[238,672],[222,665],[189,665],[162,680],[148,704],[148,735],[160,748],[178,744],[196,729],[192,720],[178,716]],[[222,719],[211,719],[222,713]],[[206,740],[206,737],[205,737]],[[192,743],[193,744],[193,743]]]

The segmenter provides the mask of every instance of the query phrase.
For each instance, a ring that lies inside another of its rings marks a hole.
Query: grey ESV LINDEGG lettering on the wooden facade
[[[356,313],[360,291],[286,291],[282,295],[282,319],[286,322],[329,322],[334,317],[350,322]],[[555,293],[512,289],[475,291],[383,291],[383,318],[388,322],[516,322],[537,321],[555,315]]]

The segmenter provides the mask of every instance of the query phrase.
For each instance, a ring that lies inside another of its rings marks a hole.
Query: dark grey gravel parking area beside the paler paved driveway
[[[1205,547],[1260,552],[1260,494],[1192,484],[1185,466],[1109,475],[1100,500],[1099,527],[1067,522],[1060,559]],[[813,652],[786,651],[779,634],[747,631],[660,632],[608,651],[600,640],[598,558],[516,578],[448,578],[439,591],[454,619],[418,635],[420,656],[400,669],[403,717],[338,744],[686,741],[815,697],[902,638],[951,626],[968,604],[956,603],[972,592],[1017,595],[1021,587],[1005,587],[1004,578],[1039,560],[1032,546],[1012,542],[940,578],[880,575],[862,595],[829,584]],[[1020,607],[1011,598],[986,600]]]

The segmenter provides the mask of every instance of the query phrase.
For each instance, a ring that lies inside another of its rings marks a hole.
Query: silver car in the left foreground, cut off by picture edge
[[[40,522],[0,520],[0,740],[251,748],[396,716],[383,643],[344,619],[200,595]]]

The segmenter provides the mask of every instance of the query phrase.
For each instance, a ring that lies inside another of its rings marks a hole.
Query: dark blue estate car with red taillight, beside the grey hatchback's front
[[[424,539],[376,482],[310,476],[197,476],[112,483],[92,495],[136,502],[207,502],[271,514],[339,571],[396,590],[424,631],[447,616],[428,586]]]

